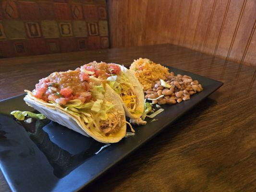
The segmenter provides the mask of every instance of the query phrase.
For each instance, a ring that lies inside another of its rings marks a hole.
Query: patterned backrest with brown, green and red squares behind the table
[[[106,0],[0,0],[0,58],[100,48]]]

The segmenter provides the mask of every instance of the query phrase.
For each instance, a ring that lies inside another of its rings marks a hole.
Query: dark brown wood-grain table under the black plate
[[[149,58],[224,85],[87,191],[256,191],[256,69],[169,44],[0,60],[0,99],[93,60]],[[10,191],[3,176],[0,191]]]

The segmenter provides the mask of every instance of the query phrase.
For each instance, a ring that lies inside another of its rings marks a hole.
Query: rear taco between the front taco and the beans
[[[143,86],[130,70],[118,64],[98,63],[96,61],[85,64],[76,70],[81,72],[85,79],[93,76],[101,81],[106,80],[116,95],[122,99],[123,108],[127,117],[139,119],[143,115]]]

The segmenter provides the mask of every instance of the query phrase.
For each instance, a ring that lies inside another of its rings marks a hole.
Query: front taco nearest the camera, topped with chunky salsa
[[[122,101],[108,84],[78,71],[53,72],[39,80],[24,101],[48,119],[102,143],[119,142],[126,133]]]

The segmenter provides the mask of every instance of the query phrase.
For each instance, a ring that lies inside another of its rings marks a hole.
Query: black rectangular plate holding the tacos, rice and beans
[[[27,132],[10,115],[13,110],[34,110],[25,104],[24,95],[0,101],[0,168],[12,191],[72,192],[81,189],[223,84],[176,68],[169,69],[198,80],[204,90],[190,100],[163,106],[165,110],[156,117],[157,121],[149,120],[146,125],[135,127],[133,137],[111,144],[98,155],[95,152],[104,144],[52,121],[38,126],[34,133]]]

